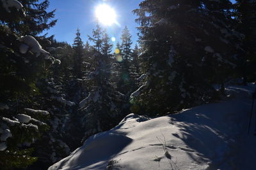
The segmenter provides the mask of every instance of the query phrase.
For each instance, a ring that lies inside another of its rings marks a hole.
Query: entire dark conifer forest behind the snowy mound
[[[175,113],[256,79],[255,1],[144,0],[134,49],[127,27],[115,49],[100,25],[90,43],[79,29],[72,45],[39,36],[56,24],[48,6],[0,1],[3,169],[47,169],[128,113]]]

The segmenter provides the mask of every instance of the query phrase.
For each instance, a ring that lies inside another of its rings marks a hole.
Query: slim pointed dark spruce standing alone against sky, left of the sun
[[[81,39],[81,33],[80,30],[77,29],[76,32],[76,38],[74,39],[73,43],[73,49],[74,49],[74,74],[77,78],[82,78],[82,63],[83,63],[83,55],[84,55],[84,49],[83,49],[83,41]]]

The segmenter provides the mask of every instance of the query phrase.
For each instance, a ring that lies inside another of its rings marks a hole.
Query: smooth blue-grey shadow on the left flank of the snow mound
[[[105,169],[109,160],[131,142],[131,138],[111,131],[95,134],[88,138],[81,148],[77,148],[69,157],[63,160],[60,167],[68,164],[72,170],[83,168]]]

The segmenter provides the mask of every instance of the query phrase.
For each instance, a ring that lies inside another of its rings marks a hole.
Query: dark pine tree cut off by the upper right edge
[[[246,81],[255,81],[256,77],[256,1],[240,1],[234,4],[234,29],[240,32],[242,36],[238,39],[242,45],[239,55],[239,69],[243,74],[244,83]]]

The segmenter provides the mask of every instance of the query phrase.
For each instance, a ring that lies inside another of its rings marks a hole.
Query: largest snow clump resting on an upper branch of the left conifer
[[[49,59],[50,53],[42,49],[42,46],[38,43],[38,41],[36,41],[33,36],[22,36],[18,40],[24,43],[20,45],[20,53],[26,53],[28,52],[28,49],[30,49],[31,52],[36,54],[36,57],[43,54],[45,55],[45,59]]]

